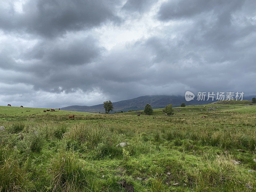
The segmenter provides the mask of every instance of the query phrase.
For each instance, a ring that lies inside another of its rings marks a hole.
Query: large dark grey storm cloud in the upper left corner
[[[29,0],[23,5],[23,12],[17,12],[10,2],[0,8],[0,28],[47,37],[62,35],[98,26],[106,20],[118,21],[114,3],[113,0]]]

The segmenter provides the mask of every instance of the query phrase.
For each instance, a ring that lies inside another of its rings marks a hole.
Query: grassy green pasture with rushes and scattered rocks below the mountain
[[[178,107],[174,116],[0,106],[0,191],[126,191],[123,180],[135,192],[255,191],[249,104]]]

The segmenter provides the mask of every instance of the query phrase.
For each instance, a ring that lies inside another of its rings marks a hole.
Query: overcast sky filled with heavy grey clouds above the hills
[[[256,95],[255,0],[1,0],[0,105]]]

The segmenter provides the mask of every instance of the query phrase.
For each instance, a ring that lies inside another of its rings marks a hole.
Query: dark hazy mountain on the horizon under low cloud
[[[152,108],[164,108],[166,105],[172,104],[173,107],[178,107],[184,102],[186,105],[203,105],[211,103],[213,101],[197,101],[196,98],[191,101],[186,101],[184,96],[169,96],[169,95],[146,95],[137,97],[134,99],[123,100],[118,102],[113,102],[113,112],[118,111],[128,111],[128,110],[144,110],[145,105],[149,103]],[[89,113],[99,113],[105,112],[103,104],[93,105],[93,106],[80,106],[73,105],[68,107],[63,107],[61,110],[66,111],[80,111]]]

